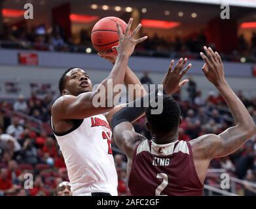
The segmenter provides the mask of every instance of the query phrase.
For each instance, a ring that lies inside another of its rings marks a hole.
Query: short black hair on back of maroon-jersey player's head
[[[152,109],[157,109],[149,105],[146,108],[146,117],[147,121],[151,125],[151,129],[156,133],[169,133],[170,131],[177,130],[179,126],[179,118],[181,116],[181,108],[176,103],[176,101],[167,95],[157,97],[156,101],[159,104],[158,100],[162,100],[163,110],[161,114],[151,114]]]

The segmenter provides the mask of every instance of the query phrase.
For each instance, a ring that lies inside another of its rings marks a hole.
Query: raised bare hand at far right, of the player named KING
[[[218,52],[213,52],[213,50],[209,47],[204,46],[204,51],[206,55],[200,52],[200,56],[204,59],[204,66],[202,67],[202,71],[206,78],[215,86],[219,86],[225,82],[225,73],[223,63],[221,61],[221,56],[219,56]]]

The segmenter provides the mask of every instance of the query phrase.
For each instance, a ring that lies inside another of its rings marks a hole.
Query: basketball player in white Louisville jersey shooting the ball
[[[147,39],[135,39],[141,24],[130,35],[130,19],[126,32],[119,33],[118,56],[109,74],[113,87],[117,84],[140,84],[136,75],[127,67],[128,57],[137,43]],[[117,172],[111,150],[111,129],[108,121],[121,106],[107,107],[107,79],[100,86],[105,88],[105,106],[95,107],[92,82],[86,72],[73,67],[64,72],[59,82],[62,97],[52,105],[52,131],[64,155],[71,191],[74,196],[117,195]],[[144,91],[143,91],[144,93]],[[142,95],[143,95],[142,93]],[[142,96],[141,95],[141,96]]]

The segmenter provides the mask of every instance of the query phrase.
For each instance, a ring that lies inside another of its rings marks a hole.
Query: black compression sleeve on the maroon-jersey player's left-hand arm
[[[126,107],[122,108],[117,112],[111,121],[111,129],[113,130],[119,123],[124,121],[128,121],[132,123],[132,121],[136,120],[141,114],[145,112],[145,108],[149,106],[149,103],[156,99],[159,95],[166,94],[164,89],[158,88],[156,91],[152,91],[151,93],[136,99],[126,105]]]

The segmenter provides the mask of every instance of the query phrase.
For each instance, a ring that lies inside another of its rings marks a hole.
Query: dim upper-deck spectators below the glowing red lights
[[[0,35],[2,48],[22,48],[29,50],[62,51],[62,52],[86,52],[86,48],[91,48],[92,53],[96,53],[90,40],[90,31],[81,29],[79,41],[67,38],[64,30],[59,25],[54,25],[50,32],[42,26],[34,27],[29,31],[27,27],[9,27],[5,25],[4,33]],[[189,57],[199,59],[201,46],[211,46],[215,49],[213,42],[207,42],[203,32],[193,34],[186,39],[175,37],[174,41],[164,39],[155,34],[154,37],[141,42],[134,52],[137,56],[155,57]],[[234,48],[230,55],[222,54],[224,60],[240,61],[241,56],[247,57],[248,61],[255,61],[256,57],[256,32],[252,32],[251,42],[248,43],[243,35],[238,37],[238,48]]]

